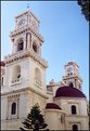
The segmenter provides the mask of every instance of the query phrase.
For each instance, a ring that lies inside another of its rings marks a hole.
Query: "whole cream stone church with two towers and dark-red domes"
[[[89,102],[76,62],[68,62],[60,82],[46,84],[48,63],[41,57],[43,37],[30,10],[15,17],[12,53],[1,66],[1,130],[20,130],[30,107],[39,104],[50,130],[89,130]]]

